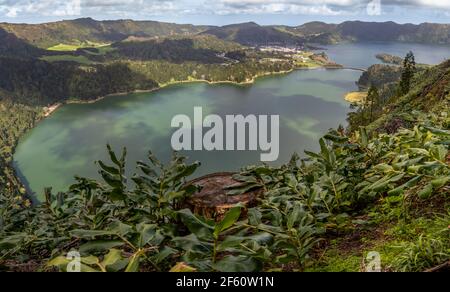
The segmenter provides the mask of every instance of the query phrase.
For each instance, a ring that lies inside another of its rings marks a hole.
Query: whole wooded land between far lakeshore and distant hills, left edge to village
[[[207,35],[133,37],[74,51],[42,50],[10,33],[5,33],[3,40],[0,89],[14,93],[20,102],[40,106],[151,90],[172,79],[247,82],[261,74],[299,66],[292,57]],[[164,64],[163,70],[160,64]]]

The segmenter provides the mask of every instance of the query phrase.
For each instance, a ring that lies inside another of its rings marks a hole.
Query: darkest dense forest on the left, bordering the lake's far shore
[[[0,57],[0,68],[0,88],[14,92],[21,101],[37,105],[157,87],[121,62],[83,68],[67,62]]]

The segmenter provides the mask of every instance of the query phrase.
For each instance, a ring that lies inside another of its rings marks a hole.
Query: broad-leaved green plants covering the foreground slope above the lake
[[[0,263],[34,260],[67,271],[79,255],[81,271],[301,271],[322,240],[405,221],[413,204],[448,203],[449,137],[427,123],[374,138],[365,129],[353,137],[332,131],[306,159],[237,174],[230,196],[263,192],[255,207],[230,206],[216,220],[185,209],[198,190],[187,180],[199,163],[175,154],[165,166],[150,153],[129,180],[126,150],[118,157],[108,146],[111,162],[97,163],[103,182],[77,177],[67,193],[48,189],[45,202],[28,208],[0,196]],[[449,260],[442,240],[405,243],[395,270]]]

